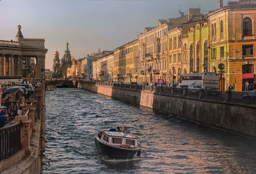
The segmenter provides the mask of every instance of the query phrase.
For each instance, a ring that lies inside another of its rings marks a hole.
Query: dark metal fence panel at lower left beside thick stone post
[[[21,149],[21,122],[0,129],[0,161],[6,159]]]

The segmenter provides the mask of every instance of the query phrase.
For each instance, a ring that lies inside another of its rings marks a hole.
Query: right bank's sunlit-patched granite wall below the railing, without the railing
[[[222,127],[238,133],[256,136],[256,105],[232,103],[214,99],[167,96],[150,91],[133,91],[105,85],[78,83],[84,90],[97,92],[113,99],[121,99],[154,108],[180,117]]]

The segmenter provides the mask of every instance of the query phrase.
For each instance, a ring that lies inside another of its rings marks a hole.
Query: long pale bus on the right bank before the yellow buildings
[[[192,85],[219,89],[220,76],[217,73],[211,72],[191,73],[180,75],[180,81],[180,85]]]

